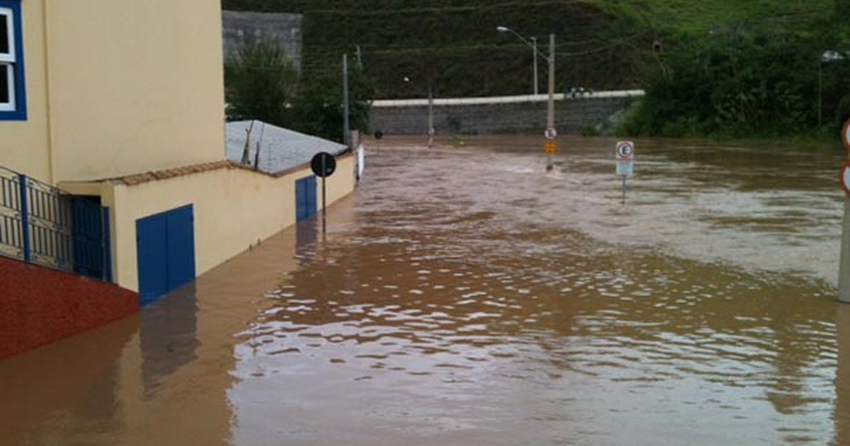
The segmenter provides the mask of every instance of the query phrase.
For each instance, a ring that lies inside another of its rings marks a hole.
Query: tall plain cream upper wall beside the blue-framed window
[[[220,5],[21,2],[26,121],[0,166],[48,183],[224,159]]]

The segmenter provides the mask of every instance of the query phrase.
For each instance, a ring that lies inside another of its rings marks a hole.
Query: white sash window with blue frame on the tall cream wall
[[[20,0],[0,0],[0,121],[26,121]]]

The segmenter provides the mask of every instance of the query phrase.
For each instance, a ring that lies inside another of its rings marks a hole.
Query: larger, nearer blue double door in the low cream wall
[[[136,220],[142,305],[195,279],[194,223],[192,205]]]

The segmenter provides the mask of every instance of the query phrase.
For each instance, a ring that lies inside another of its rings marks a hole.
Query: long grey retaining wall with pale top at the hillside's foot
[[[595,93],[576,98],[555,95],[555,126],[561,133],[608,123],[643,92]],[[437,133],[526,133],[547,127],[547,96],[435,99]],[[427,134],[428,100],[375,101],[370,128],[386,134]]]

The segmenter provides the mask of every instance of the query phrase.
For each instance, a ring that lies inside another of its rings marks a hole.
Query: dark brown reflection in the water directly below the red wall
[[[116,358],[138,327],[129,317],[0,361],[0,444],[103,441],[121,422]]]

